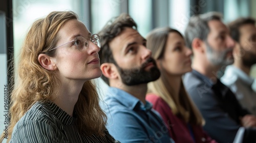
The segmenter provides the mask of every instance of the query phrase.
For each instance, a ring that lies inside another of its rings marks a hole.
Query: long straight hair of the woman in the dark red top
[[[146,38],[146,45],[147,48],[152,51],[152,56],[154,59],[160,60],[163,58],[166,41],[170,32],[176,32],[183,37],[179,31],[170,29],[168,27],[157,28],[148,34]],[[170,87],[170,84],[165,77],[166,71],[163,68],[160,70],[161,77],[154,82],[148,83],[148,93],[157,94],[157,96],[162,98],[169,105],[172,112],[175,115],[182,117],[186,123],[203,125],[203,117],[197,107],[188,97],[183,82],[181,81],[180,83],[179,99],[177,100],[173,97],[174,89]]]

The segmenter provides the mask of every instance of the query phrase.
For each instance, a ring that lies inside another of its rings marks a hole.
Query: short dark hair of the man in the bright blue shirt
[[[100,64],[102,63],[114,63],[116,64],[109,43],[117,37],[124,28],[133,28],[137,30],[137,24],[131,18],[130,15],[122,13],[120,16],[114,17],[106,23],[103,29],[99,32],[101,48],[99,51]],[[109,83],[109,79],[105,76],[101,76],[106,84]]]

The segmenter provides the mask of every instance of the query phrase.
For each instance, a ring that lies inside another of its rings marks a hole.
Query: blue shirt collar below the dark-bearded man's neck
[[[138,108],[143,111],[149,111],[152,109],[153,105],[151,103],[146,101],[146,104],[144,105],[139,99],[122,89],[109,87],[108,92],[109,97],[115,98],[118,102],[130,110]]]

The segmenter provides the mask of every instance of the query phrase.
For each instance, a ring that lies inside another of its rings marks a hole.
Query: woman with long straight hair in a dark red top
[[[216,142],[203,131],[202,115],[182,83],[182,75],[191,71],[192,52],[181,33],[168,27],[157,28],[148,34],[146,45],[161,71],[161,77],[148,84],[146,100],[169,125],[169,135],[178,143]]]

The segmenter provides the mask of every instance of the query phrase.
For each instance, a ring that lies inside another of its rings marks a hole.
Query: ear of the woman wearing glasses
[[[55,59],[46,54],[40,54],[38,56],[38,61],[41,64],[41,66],[47,70],[56,70],[57,69],[57,66],[55,64]]]

